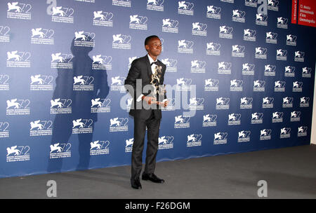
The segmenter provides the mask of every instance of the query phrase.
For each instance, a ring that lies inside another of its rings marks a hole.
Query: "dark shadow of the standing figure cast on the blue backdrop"
[[[92,47],[75,46],[75,39],[72,40],[71,52],[73,57],[62,60],[58,63],[58,76],[55,80],[55,90],[52,100],[59,99],[60,106],[55,106],[56,111],[71,107],[71,114],[57,113],[53,122],[53,134],[51,137],[51,153],[55,153],[55,157],[48,158],[47,172],[62,172],[62,152],[71,151],[71,156],[75,155],[74,142],[69,142],[76,128],[79,132],[88,128],[88,133],[74,133],[78,137],[79,162],[75,170],[88,169],[90,162],[90,143],[93,139],[93,130],[98,114],[91,112],[92,100],[105,100],[109,93],[109,85],[107,83],[107,71],[94,70],[91,57],[88,53]],[[87,37],[86,41],[91,41]],[[65,69],[62,63],[71,63],[72,69]],[[58,109],[58,107],[60,107]],[[81,119],[81,120],[79,120]],[[77,126],[76,126],[77,125]],[[58,148],[54,150],[54,147]],[[59,148],[60,147],[60,148]],[[72,170],[72,169],[71,169]]]

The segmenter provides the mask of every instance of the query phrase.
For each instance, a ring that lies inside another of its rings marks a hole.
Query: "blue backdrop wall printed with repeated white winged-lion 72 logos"
[[[152,34],[173,86],[158,161],[310,144],[315,28],[258,5],[1,1],[0,177],[129,165],[124,79]]]

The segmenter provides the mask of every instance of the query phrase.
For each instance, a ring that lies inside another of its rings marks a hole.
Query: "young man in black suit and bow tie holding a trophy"
[[[134,117],[134,142],[131,159],[131,186],[142,188],[140,172],[147,127],[147,151],[143,180],[164,183],[154,174],[158,150],[159,126],[162,118],[161,107],[168,105],[166,91],[162,88],[166,65],[157,60],[162,53],[162,42],[158,36],[145,39],[147,55],[134,60],[124,83],[133,97],[129,114]]]

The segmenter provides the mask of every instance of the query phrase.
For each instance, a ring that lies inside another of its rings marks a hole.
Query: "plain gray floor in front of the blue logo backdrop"
[[[165,184],[130,186],[130,166],[0,179],[0,198],[258,198],[259,180],[268,198],[316,198],[316,145],[157,163]]]

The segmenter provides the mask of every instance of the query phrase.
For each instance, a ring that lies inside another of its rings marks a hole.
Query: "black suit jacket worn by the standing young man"
[[[157,66],[162,67],[162,76],[160,76],[159,79],[159,85],[162,85],[164,84],[164,73],[166,72],[166,65],[158,60]],[[143,101],[136,102],[136,99],[138,99],[141,94],[146,96],[149,95],[150,92],[152,92],[152,90],[147,90],[147,87],[145,88],[145,90],[147,91],[143,91],[146,85],[150,85],[151,76],[152,68],[150,66],[148,55],[133,60],[131,64],[131,69],[129,69],[129,74],[126,77],[124,85],[126,87],[126,90],[131,94],[131,97],[133,97],[133,102],[129,114],[131,116],[134,116],[134,118],[147,119],[152,114],[152,110],[154,111],[154,117],[156,119],[162,118],[162,110],[159,105],[148,106],[147,104],[142,104]],[[138,85],[138,88],[136,87],[137,80],[141,80],[141,85]],[[129,90],[129,87],[126,85],[131,85],[133,87],[133,91]],[[164,94],[163,97],[157,97],[157,100],[162,101],[162,99],[165,98],[166,94]]]

